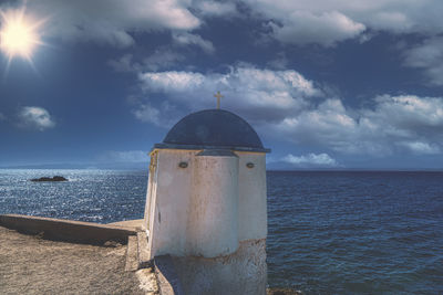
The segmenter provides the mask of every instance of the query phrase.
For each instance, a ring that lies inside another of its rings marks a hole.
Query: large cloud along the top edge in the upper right
[[[368,31],[437,35],[443,32],[439,0],[245,0],[284,43],[331,46]],[[368,36],[368,35],[365,35]],[[365,38],[363,38],[364,40]]]

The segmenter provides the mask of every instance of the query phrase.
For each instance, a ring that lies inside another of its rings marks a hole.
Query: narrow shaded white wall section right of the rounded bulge
[[[265,239],[268,231],[266,197],[266,154],[236,151],[238,171],[238,239]],[[254,168],[248,168],[248,162]]]

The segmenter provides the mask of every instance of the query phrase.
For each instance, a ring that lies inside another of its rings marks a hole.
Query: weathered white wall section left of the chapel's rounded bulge
[[[167,253],[185,255],[192,194],[190,171],[196,151],[159,149],[157,152],[156,185],[146,196],[146,203],[151,203],[148,217],[145,217],[150,219],[151,257]],[[182,161],[187,162],[188,167],[178,167]]]

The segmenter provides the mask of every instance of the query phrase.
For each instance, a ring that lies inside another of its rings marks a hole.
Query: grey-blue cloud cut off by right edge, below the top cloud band
[[[443,85],[443,36],[426,39],[404,53],[404,65],[421,69],[426,84]]]

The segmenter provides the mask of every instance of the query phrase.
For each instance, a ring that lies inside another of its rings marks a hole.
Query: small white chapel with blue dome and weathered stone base
[[[151,257],[171,254],[186,294],[266,294],[266,152],[223,109],[190,114],[151,152]]]

